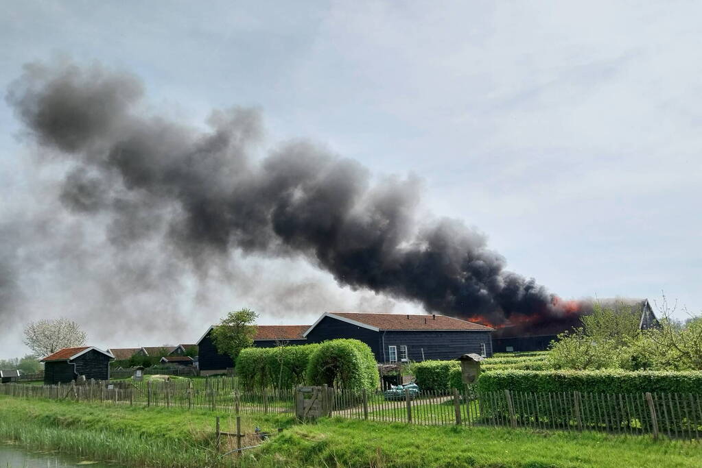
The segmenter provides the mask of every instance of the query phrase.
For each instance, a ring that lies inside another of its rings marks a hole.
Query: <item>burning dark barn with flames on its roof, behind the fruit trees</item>
[[[600,299],[597,301],[602,308],[611,308],[619,313],[633,313],[639,319],[639,329],[647,330],[660,326],[656,314],[648,299]],[[584,314],[592,313],[592,308],[588,306]],[[582,326],[580,319],[549,322],[530,326],[525,329],[520,325],[508,325],[497,329],[492,337],[492,344],[495,352],[527,352],[548,350],[552,340],[557,339],[560,333],[573,329],[574,326]]]

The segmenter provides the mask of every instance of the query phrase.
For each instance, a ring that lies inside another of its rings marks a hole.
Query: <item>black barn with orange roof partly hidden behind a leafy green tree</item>
[[[234,367],[230,356],[217,352],[211,338],[211,332],[215,326],[208,328],[197,342],[198,366],[201,376],[224,373],[227,369]],[[308,328],[310,328],[309,325],[258,325],[256,336],[253,337],[253,345],[256,347],[273,347],[279,344],[304,345],[307,341],[302,334]]]

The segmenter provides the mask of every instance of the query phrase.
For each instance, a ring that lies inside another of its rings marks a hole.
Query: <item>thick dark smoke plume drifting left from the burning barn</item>
[[[256,158],[259,111],[213,111],[203,131],[148,113],[144,97],[132,74],[72,62],[27,64],[6,96],[25,137],[51,153],[38,164],[67,167],[55,216],[93,219],[105,236],[118,277],[103,286],[115,303],[122,288],[112,281],[147,294],[177,287],[184,266],[206,278],[243,252],[302,256],[339,284],[456,317],[559,314],[543,287],[505,270],[484,235],[418,219],[416,178],[374,181],[357,161],[304,140]],[[65,247],[74,254],[80,242]],[[167,255],[142,258],[153,252],[146,245]],[[0,288],[13,271],[0,268]]]

